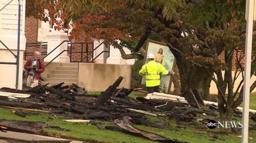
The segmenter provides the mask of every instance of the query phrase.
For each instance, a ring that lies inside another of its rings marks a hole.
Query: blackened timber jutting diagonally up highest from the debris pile
[[[100,99],[98,99],[96,107],[104,105],[104,103],[108,101],[108,99],[113,95],[114,90],[119,86],[122,80],[123,77],[120,76],[117,80],[115,80],[115,83],[113,85],[110,85],[109,88],[106,89],[105,92],[100,95]]]

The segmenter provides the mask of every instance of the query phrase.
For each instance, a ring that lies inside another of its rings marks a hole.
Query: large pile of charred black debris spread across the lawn
[[[166,118],[176,119],[176,124],[193,124],[199,122],[197,115],[210,115],[216,117],[217,107],[214,105],[205,106],[203,100],[196,90],[185,93],[193,94],[192,99],[188,102],[148,99],[137,97],[136,99],[129,97],[133,89],[120,88],[117,89],[123,77],[119,77],[113,85],[102,92],[100,96],[89,95],[84,88],[80,88],[76,84],[63,86],[64,83],[47,86],[38,85],[28,90],[15,90],[10,88],[2,88],[0,92],[30,95],[27,98],[15,96],[0,96],[0,106],[16,110],[14,114],[26,118],[26,114],[20,110],[46,112],[49,114],[63,116],[67,120],[76,122],[89,121],[96,125],[99,129],[104,129],[101,125],[94,122],[94,119],[108,120],[113,123],[112,126],[106,126],[105,129],[129,132],[135,135],[141,135],[151,140],[162,142],[179,142],[170,140],[163,136],[156,135],[135,128],[133,124],[148,125],[156,128],[170,129],[166,127]],[[0,93],[1,95],[1,93]],[[195,106],[191,108],[190,106]],[[201,108],[200,108],[201,107]],[[161,122],[149,122],[148,116],[156,116]],[[217,117],[216,117],[217,118]],[[208,119],[201,119],[200,122],[208,122]],[[15,124],[14,121],[0,120],[0,126],[11,128]],[[28,124],[28,123],[23,123]],[[42,123],[34,125],[36,127],[46,127]],[[33,126],[33,125],[32,125]],[[202,128],[207,128],[206,124]],[[21,127],[22,129],[22,127]],[[19,130],[19,129],[18,129]],[[11,130],[10,130],[11,131]],[[16,131],[16,130],[15,130]],[[25,132],[25,131],[24,131]],[[30,133],[38,133],[36,129],[27,131]]]

